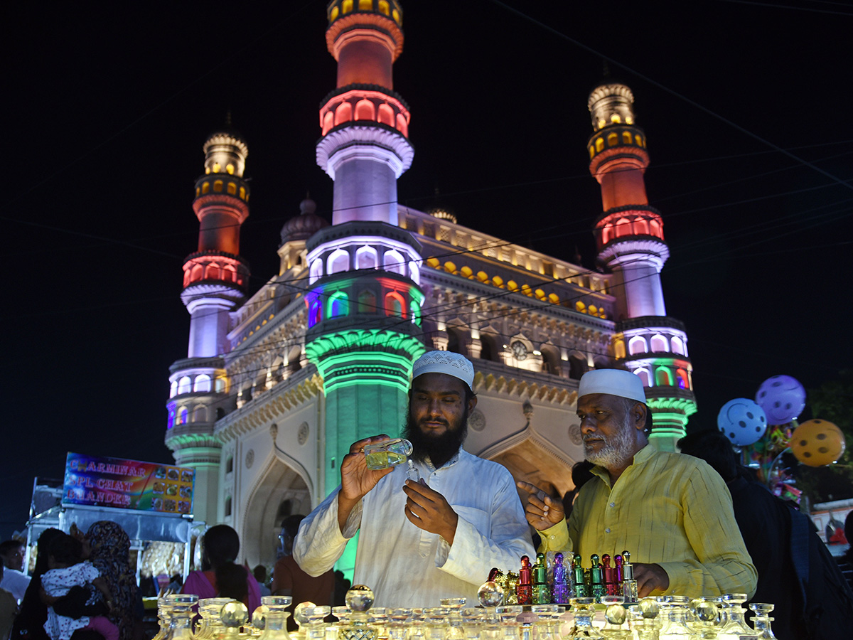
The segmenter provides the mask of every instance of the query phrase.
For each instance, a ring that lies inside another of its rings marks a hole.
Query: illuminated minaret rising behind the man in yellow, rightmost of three
[[[601,184],[604,209],[595,238],[598,262],[612,272],[618,300],[614,354],[646,387],[653,444],[675,451],[696,411],[693,368],[684,325],[666,316],[660,270],[670,250],[660,212],[648,204],[646,134],[635,125],[633,105],[631,90],[609,79],[589,94],[589,172]]]

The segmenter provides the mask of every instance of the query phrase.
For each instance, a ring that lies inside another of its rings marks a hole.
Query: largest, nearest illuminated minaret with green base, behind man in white
[[[414,155],[409,110],[392,90],[403,12],[394,0],[333,0],[327,17],[338,86],[320,108],[316,160],[334,180],[334,214],[332,226],[306,242],[305,354],[326,398],[317,497],[339,483],[352,442],[399,433],[412,362],[424,351],[420,246],[397,226],[397,177]]]

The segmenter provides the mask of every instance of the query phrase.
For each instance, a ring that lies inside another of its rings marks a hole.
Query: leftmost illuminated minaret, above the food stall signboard
[[[248,148],[234,132],[220,131],[204,145],[205,173],[195,181],[193,209],[199,246],[183,261],[181,300],[190,314],[187,358],[171,365],[165,444],[177,464],[196,471],[194,515],[217,521],[221,443],[213,425],[224,413],[228,378],[223,355],[229,311],[246,299],[249,266],[240,257],[240,227],[249,215],[243,179]]]

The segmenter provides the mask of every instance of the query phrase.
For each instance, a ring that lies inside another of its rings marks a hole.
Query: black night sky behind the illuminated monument
[[[252,291],[276,274],[279,230],[306,190],[331,219],[314,151],[335,83],[325,4],[4,9],[2,538],[23,527],[34,476],[61,477],[67,451],[171,462],[165,400],[189,336],[179,294],[198,237],[194,179],[229,110],[249,145]],[[411,107],[415,161],[401,203],[440,204],[594,268],[586,101],[607,58],[648,137],[667,311],[687,325],[699,401],[690,428],[770,375],[809,388],[850,366],[849,4],[403,10],[394,89]]]

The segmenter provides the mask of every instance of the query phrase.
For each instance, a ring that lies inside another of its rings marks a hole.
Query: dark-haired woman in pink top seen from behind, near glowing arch
[[[240,553],[237,532],[228,525],[211,527],[202,538],[202,544],[202,570],[189,573],[182,593],[194,593],[199,598],[234,598],[245,604],[252,614],[261,603],[258,581],[246,567],[235,564]]]

